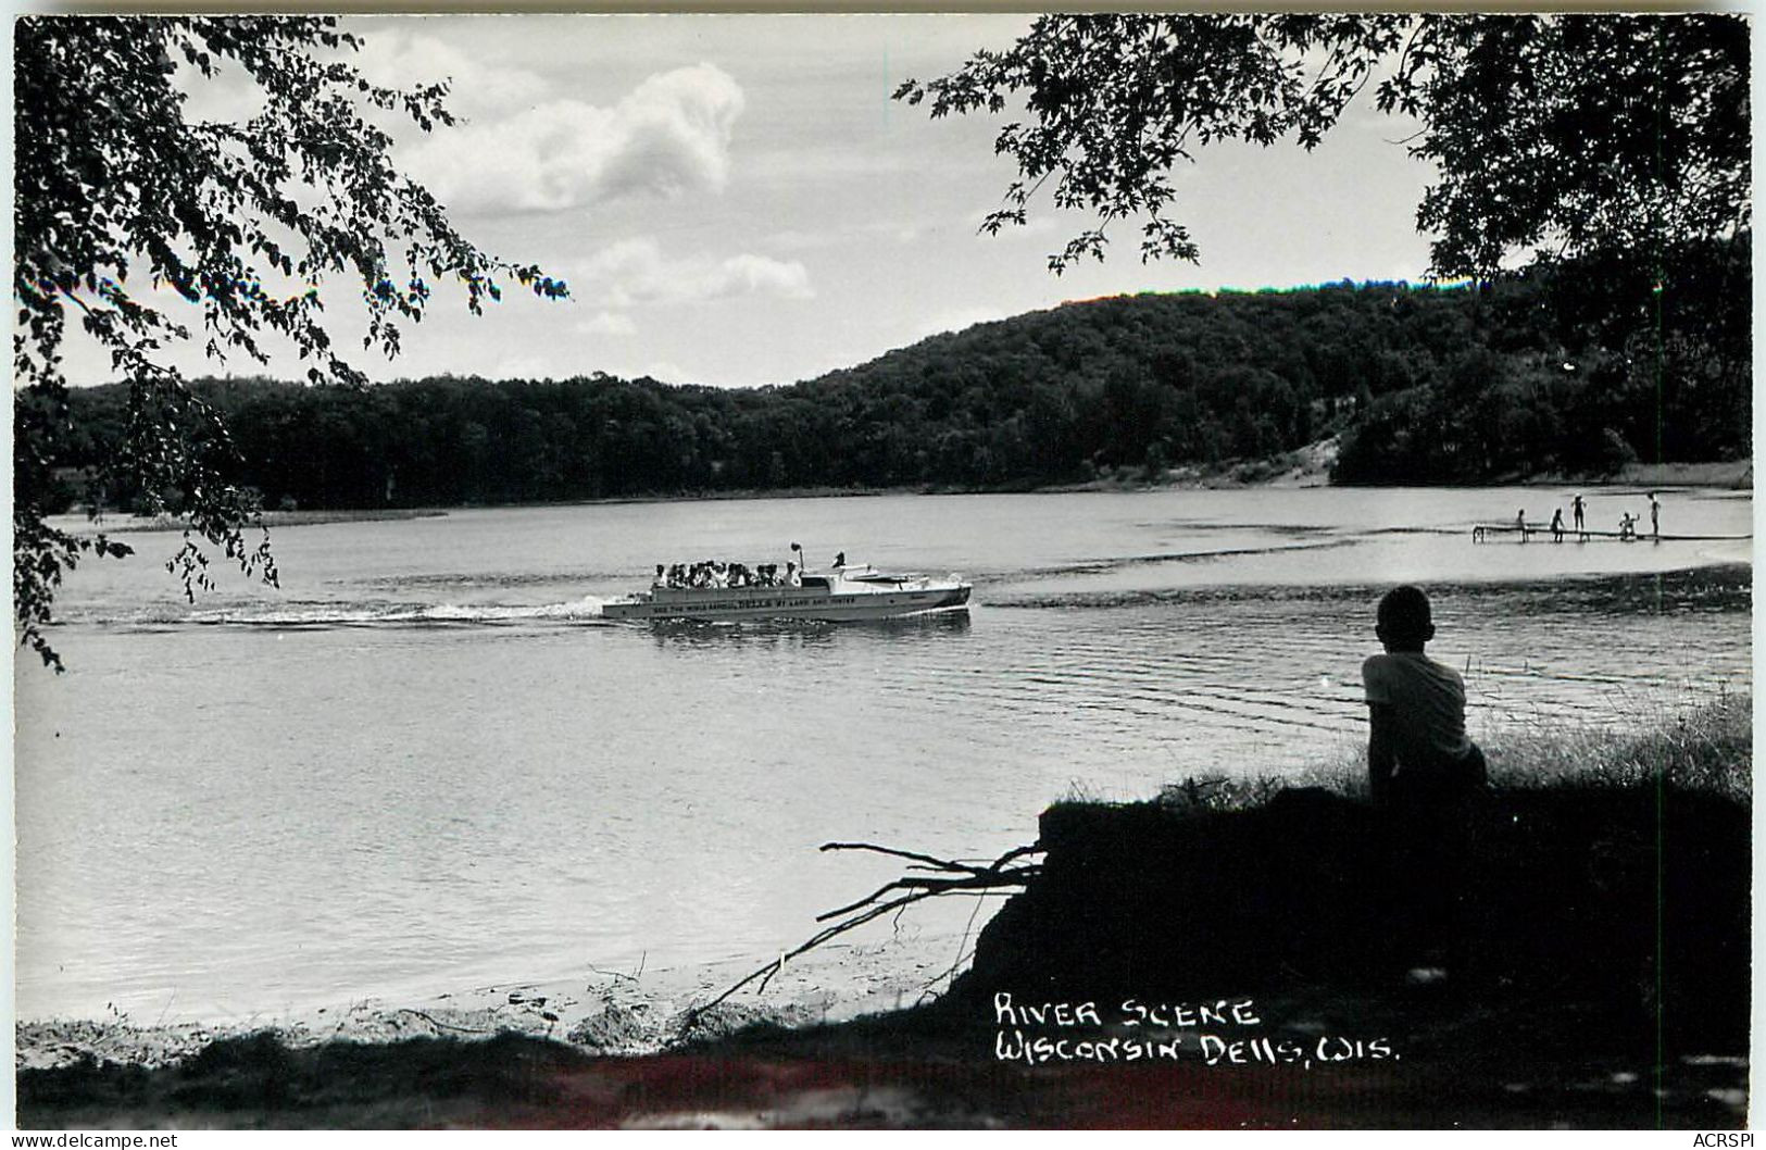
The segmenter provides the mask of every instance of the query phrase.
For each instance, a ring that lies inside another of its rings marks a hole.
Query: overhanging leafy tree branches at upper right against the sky
[[[1098,219],[1049,256],[1061,272],[1102,260],[1128,219],[1143,260],[1199,261],[1174,217],[1181,166],[1222,140],[1316,148],[1369,83],[1381,111],[1420,122],[1408,148],[1439,173],[1416,212],[1436,276],[1752,223],[1748,26],[1732,14],[1042,16],[895,99],[934,118],[1021,104],[994,140],[1017,175],[982,230],[1024,224],[1051,187],[1056,208]]]

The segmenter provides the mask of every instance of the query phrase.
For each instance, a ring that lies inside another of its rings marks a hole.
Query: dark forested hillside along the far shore
[[[268,507],[729,489],[1023,488],[1342,436],[1337,482],[1489,482],[1750,450],[1747,240],[1660,267],[1139,295],[936,336],[789,387],[590,373],[367,389],[208,380]],[[1655,290],[1655,283],[1662,290]],[[1598,284],[1598,290],[1591,284]],[[1614,290],[1612,284],[1626,284]],[[104,479],[125,387],[76,390],[67,500]]]

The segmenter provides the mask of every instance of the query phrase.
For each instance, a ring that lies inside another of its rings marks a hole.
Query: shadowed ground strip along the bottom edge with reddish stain
[[[1545,1002],[1469,1005],[1416,989],[1385,1003],[1335,1007],[1362,1030],[1395,1023],[1395,1042],[1409,1056],[1312,1069],[1199,1060],[1026,1067],[994,1060],[992,1026],[936,1010],[751,1032],[645,1058],[597,1058],[517,1035],[309,1049],[260,1035],[215,1042],[157,1071],[115,1063],[26,1071],[19,1125],[1709,1129],[1743,1122],[1740,1058],[1678,1060],[1662,1067],[1660,1079],[1649,1067],[1639,1074],[1630,1060],[1565,1049],[1582,1019]],[[1409,1030],[1432,1032],[1432,1042],[1413,1042]]]

